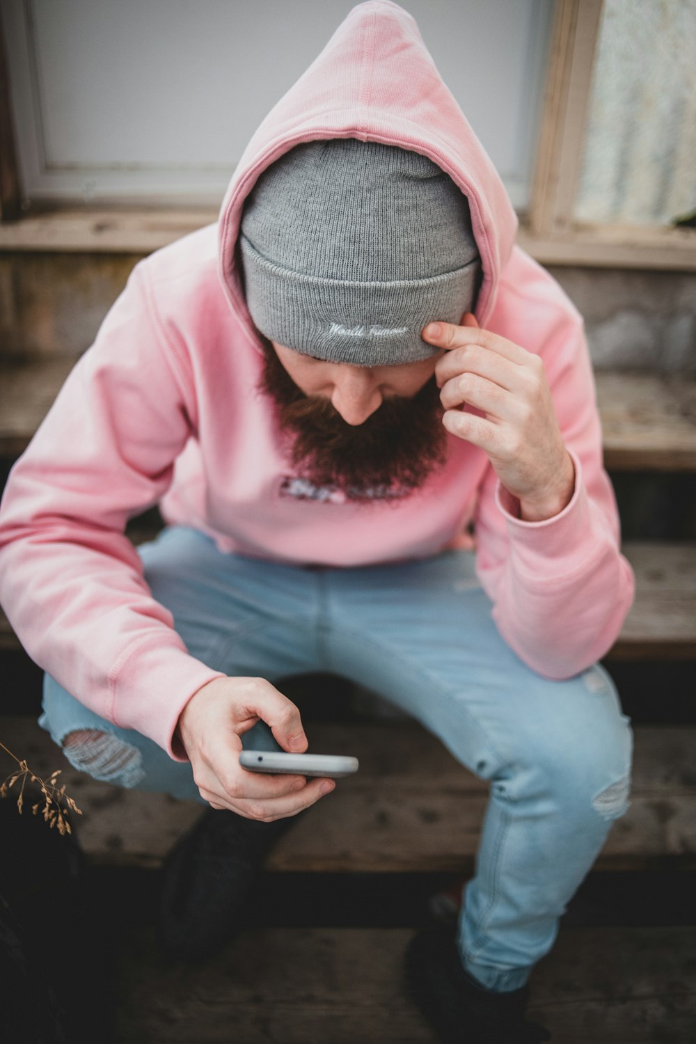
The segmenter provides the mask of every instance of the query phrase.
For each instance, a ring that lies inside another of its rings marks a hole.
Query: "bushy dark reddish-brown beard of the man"
[[[447,431],[434,376],[412,398],[384,399],[363,424],[346,424],[328,399],[307,396],[264,342],[259,390],[273,402],[297,476],[358,503],[419,490],[446,460]]]

